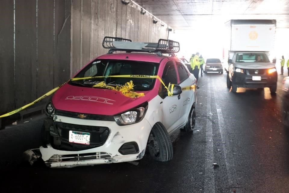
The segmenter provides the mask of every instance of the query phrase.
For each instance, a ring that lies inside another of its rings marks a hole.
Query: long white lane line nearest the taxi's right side
[[[207,89],[207,112],[212,112],[210,77],[208,80],[208,89]],[[215,193],[215,177],[214,177],[213,161],[214,161],[214,150],[213,150],[212,121],[210,119],[207,119],[204,193]]]

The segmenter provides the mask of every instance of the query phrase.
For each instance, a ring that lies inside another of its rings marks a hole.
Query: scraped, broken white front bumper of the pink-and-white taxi
[[[57,118],[54,118],[54,122],[79,126],[98,125],[109,128],[110,132],[104,144],[99,147],[83,150],[63,150],[53,147],[52,144],[40,147],[42,160],[47,166],[53,168],[140,160],[144,156],[148,136],[151,132],[151,125],[146,119],[132,125],[119,126],[112,121],[82,120],[58,115]],[[73,130],[73,128],[71,129]],[[129,149],[133,149],[134,152],[130,153]]]

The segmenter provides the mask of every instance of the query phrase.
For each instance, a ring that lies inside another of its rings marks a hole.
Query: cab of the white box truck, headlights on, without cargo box
[[[238,87],[269,87],[276,92],[277,71],[266,52],[235,52],[228,60],[227,87],[236,92]]]

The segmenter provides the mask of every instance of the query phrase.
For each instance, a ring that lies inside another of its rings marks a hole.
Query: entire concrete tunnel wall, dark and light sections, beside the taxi
[[[129,0],[1,0],[0,115],[67,81],[98,55],[104,36],[152,42],[167,25]]]

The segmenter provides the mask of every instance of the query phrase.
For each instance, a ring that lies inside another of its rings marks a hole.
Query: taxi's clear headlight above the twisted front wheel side
[[[114,119],[118,125],[130,125],[140,122],[148,109],[148,102],[145,102],[126,112],[114,115]]]

